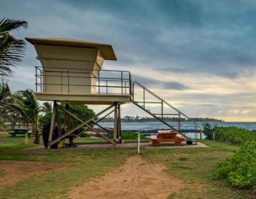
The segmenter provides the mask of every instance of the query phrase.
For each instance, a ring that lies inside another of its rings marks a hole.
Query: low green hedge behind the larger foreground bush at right
[[[242,144],[246,141],[256,140],[256,133],[238,128],[236,126],[216,127],[214,128],[215,139],[221,142],[230,142],[233,144]]]

